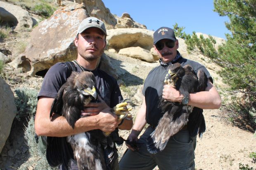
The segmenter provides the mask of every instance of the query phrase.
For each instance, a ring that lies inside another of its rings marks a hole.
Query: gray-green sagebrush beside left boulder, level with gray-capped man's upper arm
[[[16,93],[15,104],[18,111],[16,118],[21,120],[21,118],[35,114],[38,91],[30,88],[17,88],[14,92]]]

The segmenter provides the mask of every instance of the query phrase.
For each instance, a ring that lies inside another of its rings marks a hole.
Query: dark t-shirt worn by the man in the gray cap
[[[77,66],[76,70],[77,72],[82,71]],[[71,75],[71,71],[72,70],[69,70],[65,63],[56,63],[53,65],[45,75],[42,88],[38,93],[38,98],[40,96],[55,98],[61,86]],[[95,69],[91,72],[94,74],[96,79],[97,91],[109,107],[113,108],[123,100],[120,88],[114,77],[100,69]]]

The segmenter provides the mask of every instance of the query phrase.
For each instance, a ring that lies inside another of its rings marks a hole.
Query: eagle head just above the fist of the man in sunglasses
[[[168,69],[169,69],[169,71],[166,74],[164,83],[171,84],[173,87],[175,87],[178,80],[181,81],[182,77],[185,75],[185,70],[180,65],[180,63],[175,63],[173,65],[169,65]]]

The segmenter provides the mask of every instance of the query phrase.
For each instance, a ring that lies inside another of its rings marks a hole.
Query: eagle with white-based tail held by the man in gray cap
[[[50,117],[53,112],[60,114],[74,128],[81,110],[89,102],[97,102],[95,82],[92,72],[72,72],[52,103]],[[68,137],[47,137],[46,157],[51,166],[64,165],[64,169],[74,159],[79,170],[110,170],[111,161],[116,159],[114,149],[109,136],[90,130]]]

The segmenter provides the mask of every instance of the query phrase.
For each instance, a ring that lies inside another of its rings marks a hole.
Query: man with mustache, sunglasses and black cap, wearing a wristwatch
[[[194,149],[196,137],[190,137],[189,131],[183,128],[168,141],[165,149],[156,154],[147,151],[147,137],[154,131],[159,119],[163,116],[158,108],[159,96],[171,102],[181,102],[184,105],[192,105],[201,109],[218,109],[221,104],[218,91],[213,86],[213,79],[206,68],[195,61],[183,58],[179,51],[179,42],[174,31],[168,27],[161,27],[154,32],[154,49],[159,55],[160,65],[151,70],[145,79],[143,95],[144,100],[137,113],[136,120],[128,140],[136,141],[137,148],[127,144],[129,149],[119,162],[120,170],[152,170],[156,165],[160,170],[194,170]],[[205,91],[191,93],[183,96],[171,85],[164,85],[164,79],[168,72],[167,67],[173,63],[180,63],[182,66],[191,65],[197,72],[203,69],[208,77],[208,84]],[[138,136],[144,126],[150,126],[145,132]]]

